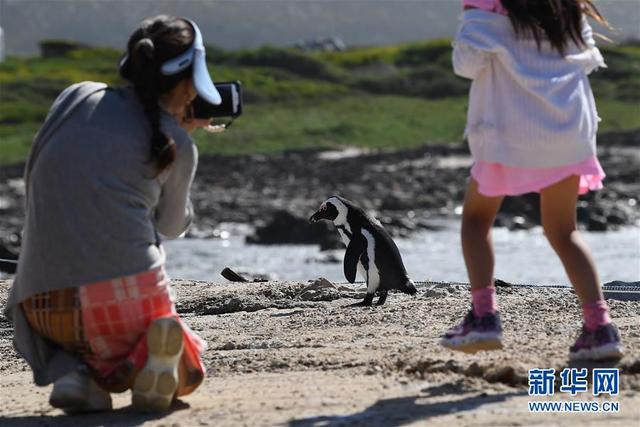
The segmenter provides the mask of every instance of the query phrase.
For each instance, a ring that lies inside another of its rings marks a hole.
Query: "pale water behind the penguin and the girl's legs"
[[[640,280],[640,228],[606,233],[582,233],[596,260],[603,283]],[[563,284],[564,269],[549,247],[541,228],[529,231],[494,229],[496,277],[512,283]],[[442,231],[421,232],[396,239],[409,275],[414,280],[466,282],[459,224],[447,223]],[[221,281],[220,271],[272,272],[283,280],[306,281],[326,277],[345,281],[342,262],[316,262],[323,256],[315,245],[246,245],[244,237],[184,239],[165,243],[171,277]],[[335,252],[340,261],[344,251]],[[360,279],[359,279],[360,280]]]

